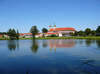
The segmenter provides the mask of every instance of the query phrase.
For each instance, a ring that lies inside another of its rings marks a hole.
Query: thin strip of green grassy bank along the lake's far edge
[[[31,40],[33,38],[20,38],[19,40]],[[100,39],[100,36],[87,36],[87,37],[42,37],[36,39]],[[0,38],[0,40],[10,40],[8,38]]]

